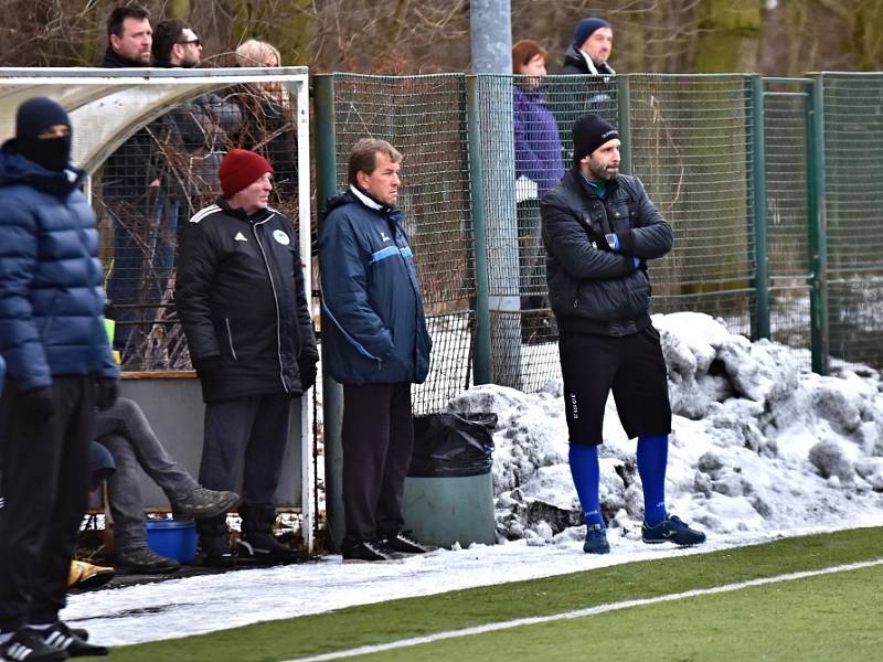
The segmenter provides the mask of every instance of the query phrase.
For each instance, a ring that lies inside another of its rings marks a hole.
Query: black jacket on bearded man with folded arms
[[[540,204],[552,310],[562,332],[629,335],[650,324],[646,260],[672,246],[671,226],[636,177],[607,182],[604,199],[571,169]],[[616,233],[619,254],[605,235]],[[639,257],[641,267],[635,267]]]

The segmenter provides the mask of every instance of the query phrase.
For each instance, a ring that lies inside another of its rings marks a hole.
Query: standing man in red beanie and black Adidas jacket
[[[200,483],[236,491],[242,540],[226,516],[196,520],[206,565],[292,563],[273,537],[274,495],[288,439],[290,398],[316,381],[312,331],[297,231],[269,207],[273,167],[234,149],[219,169],[222,196],[181,233],[175,302],[205,402]]]

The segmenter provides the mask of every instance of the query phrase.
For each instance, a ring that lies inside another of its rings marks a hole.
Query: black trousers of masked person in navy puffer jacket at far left
[[[88,504],[95,377],[54,376],[53,413],[35,419],[7,381],[0,403],[0,631],[51,623],[64,607]]]

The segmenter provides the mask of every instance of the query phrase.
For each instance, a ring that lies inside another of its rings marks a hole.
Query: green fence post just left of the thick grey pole
[[[479,127],[478,77],[466,77],[467,122],[469,129],[469,188],[476,265],[476,353],[475,383],[491,384],[490,299],[488,284],[488,233],[485,225],[485,184],[481,177],[481,131]]]

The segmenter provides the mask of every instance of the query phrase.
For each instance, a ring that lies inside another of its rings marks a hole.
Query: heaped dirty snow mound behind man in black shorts
[[[674,419],[669,510],[710,534],[788,530],[883,511],[883,382],[871,369],[822,377],[806,352],[752,343],[706,314],[655,316]],[[477,386],[447,410],[494,412],[499,538],[574,540],[583,516],[567,466],[562,385],[528,395]],[[640,535],[635,441],[608,399],[602,510],[611,537]]]

